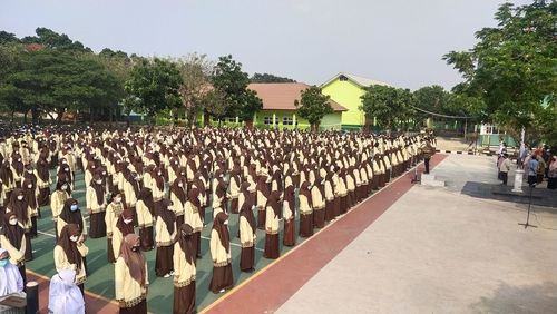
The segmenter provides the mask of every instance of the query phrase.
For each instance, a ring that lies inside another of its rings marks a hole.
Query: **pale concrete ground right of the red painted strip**
[[[468,193],[494,163],[448,156],[446,188],[412,187],[277,313],[557,313],[557,208],[525,229],[526,204]]]

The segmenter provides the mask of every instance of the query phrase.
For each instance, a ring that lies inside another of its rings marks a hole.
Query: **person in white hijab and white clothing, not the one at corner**
[[[48,310],[50,313],[85,313],[84,295],[75,284],[76,271],[61,269],[50,279]]]

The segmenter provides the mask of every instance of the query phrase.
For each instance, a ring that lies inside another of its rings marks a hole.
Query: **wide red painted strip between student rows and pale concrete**
[[[430,168],[447,155],[431,158]],[[423,165],[418,168],[423,171]],[[329,228],[306,241],[299,249],[266,268],[236,291],[216,301],[208,313],[273,313],[331,262],[411,187],[413,170],[384,187],[374,197],[349,212]]]

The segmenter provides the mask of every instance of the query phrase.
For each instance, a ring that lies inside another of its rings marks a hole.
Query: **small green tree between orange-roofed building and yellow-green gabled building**
[[[321,94],[321,88],[316,86],[300,91],[300,101],[294,100],[296,112],[310,122],[313,131],[317,131],[323,117],[333,112],[333,107],[329,102],[331,97]]]

